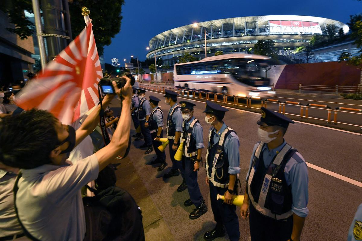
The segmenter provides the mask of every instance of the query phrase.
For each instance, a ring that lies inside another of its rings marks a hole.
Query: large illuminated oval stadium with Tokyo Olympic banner
[[[328,25],[334,25],[337,33],[340,28],[345,34],[349,31],[345,23],[336,20],[297,15],[225,18],[197,25],[194,27],[191,23],[157,34],[149,42],[147,58],[153,58],[156,53],[157,58],[161,57],[164,63],[170,65],[176,63],[183,53],[203,59],[205,28],[207,57],[214,56],[216,51],[244,53],[263,39],[272,39],[275,50],[281,55],[286,50],[307,46],[313,35],[327,35]]]

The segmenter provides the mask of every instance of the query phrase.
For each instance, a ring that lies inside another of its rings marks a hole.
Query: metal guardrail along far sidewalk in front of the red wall
[[[299,94],[302,93],[302,91],[333,92],[335,95],[338,95],[338,93],[362,94],[362,84],[358,84],[358,86],[299,84]]]

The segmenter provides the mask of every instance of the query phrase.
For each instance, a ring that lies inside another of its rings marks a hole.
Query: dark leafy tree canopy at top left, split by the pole
[[[102,55],[104,46],[111,44],[111,38],[114,38],[121,29],[124,0],[68,0],[68,2],[72,35],[79,35],[85,27],[81,8],[86,6],[93,20],[93,33],[98,54]],[[0,10],[9,14],[10,22],[15,25],[15,29],[8,29],[8,31],[16,33],[21,39],[26,39],[34,33],[34,24],[24,16],[24,10],[33,12],[31,0],[5,0],[5,3],[1,1]]]

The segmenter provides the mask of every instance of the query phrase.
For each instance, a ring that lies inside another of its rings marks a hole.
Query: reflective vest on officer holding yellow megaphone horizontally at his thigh
[[[229,159],[225,154],[225,140],[226,137],[234,132],[235,130],[226,127],[221,133],[218,143],[214,143],[214,137],[212,132],[215,128],[211,128],[209,132],[209,146],[206,152],[206,176],[214,186],[219,188],[226,188],[229,185],[230,174],[229,174]]]

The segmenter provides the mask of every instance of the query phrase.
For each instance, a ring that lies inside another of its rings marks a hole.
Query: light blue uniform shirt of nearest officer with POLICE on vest
[[[264,145],[262,149],[262,155],[264,160],[264,165],[269,166],[274,156],[277,155],[277,152],[281,151],[285,146],[286,142],[284,141],[282,145],[278,146],[273,150],[269,150],[268,145]],[[255,151],[259,143],[255,144],[253,149],[253,155],[250,159],[249,170],[247,173],[247,178],[249,176],[250,168],[253,163],[253,158]],[[287,185],[291,185],[291,192],[293,197],[292,203],[292,212],[294,212],[299,217],[305,218],[308,215],[308,169],[307,164],[303,159],[303,156],[296,152],[290,160],[287,162],[284,168],[284,176],[287,182]]]

